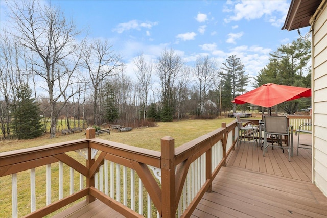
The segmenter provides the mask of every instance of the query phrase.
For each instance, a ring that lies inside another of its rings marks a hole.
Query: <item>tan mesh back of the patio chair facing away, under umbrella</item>
[[[287,116],[264,116],[265,132],[288,135]]]

